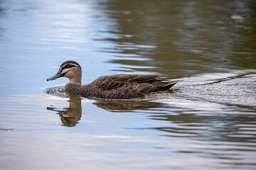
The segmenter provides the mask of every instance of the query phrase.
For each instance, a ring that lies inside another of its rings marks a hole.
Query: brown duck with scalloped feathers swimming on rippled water
[[[165,91],[178,81],[160,79],[161,74],[113,74],[102,76],[82,85],[82,68],[78,62],[68,60],[60,64],[57,74],[47,81],[66,77],[64,89],[68,94],[84,98],[130,99],[144,98],[146,94]]]

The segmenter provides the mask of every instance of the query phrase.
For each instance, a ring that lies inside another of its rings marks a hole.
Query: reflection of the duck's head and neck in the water
[[[58,108],[48,107],[48,110],[58,111],[60,120],[63,125],[68,127],[75,126],[82,116],[81,98],[80,96],[70,95],[69,107],[64,108],[66,111],[60,111]]]

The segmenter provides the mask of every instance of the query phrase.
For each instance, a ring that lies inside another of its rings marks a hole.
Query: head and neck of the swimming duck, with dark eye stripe
[[[52,77],[49,77],[47,81],[58,79],[60,77],[67,77],[72,84],[81,84],[82,69],[80,64],[75,61],[66,61],[60,65],[58,73]]]

